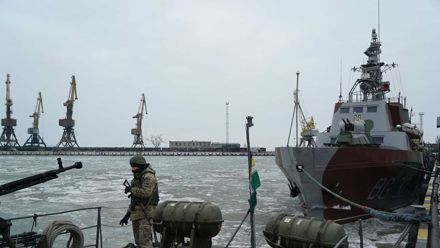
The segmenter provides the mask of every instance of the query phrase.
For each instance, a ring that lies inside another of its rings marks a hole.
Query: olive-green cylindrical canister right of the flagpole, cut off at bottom
[[[267,243],[271,247],[307,248],[334,247],[346,236],[344,228],[333,220],[324,220],[292,214],[278,214],[271,217],[263,231]],[[340,247],[348,247],[345,241]]]

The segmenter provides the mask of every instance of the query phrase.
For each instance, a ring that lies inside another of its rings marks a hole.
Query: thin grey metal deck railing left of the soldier
[[[81,231],[82,230],[86,230],[86,229],[92,229],[92,228],[96,228],[96,239],[95,239],[95,243],[94,244],[88,244],[88,245],[84,245],[82,247],[103,247],[103,240],[102,240],[102,229],[101,229],[101,209],[102,207],[90,207],[90,208],[81,208],[81,209],[74,209],[74,210],[67,210],[67,211],[62,211],[62,212],[56,212],[56,213],[48,213],[48,214],[34,214],[34,215],[29,215],[29,216],[22,216],[22,217],[16,217],[16,218],[10,218],[10,219],[6,219],[6,221],[13,221],[13,220],[19,220],[19,219],[31,219],[33,218],[34,222],[33,225],[35,223],[36,226],[36,219],[39,217],[44,217],[44,216],[52,216],[52,215],[59,215],[59,214],[65,214],[65,213],[72,213],[72,212],[80,212],[80,211],[86,211],[86,210],[97,210],[97,218],[96,218],[96,224],[92,225],[92,226],[85,226],[85,227],[78,227]],[[61,234],[67,234],[68,232],[64,232]],[[37,234],[36,236],[41,236],[41,234]],[[84,236],[85,237],[85,236]]]

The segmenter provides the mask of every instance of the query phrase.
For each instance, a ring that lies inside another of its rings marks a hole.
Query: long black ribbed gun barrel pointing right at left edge
[[[40,174],[28,176],[25,178],[18,179],[16,181],[6,183],[3,185],[0,185],[0,196],[12,193],[14,191],[24,189],[31,187],[36,184],[41,184],[46,181],[55,179],[58,177],[57,174],[64,172],[66,170],[70,169],[81,169],[83,167],[83,164],[81,162],[76,162],[74,165],[68,166],[66,168],[57,169],[57,170],[50,170],[46,171]]]

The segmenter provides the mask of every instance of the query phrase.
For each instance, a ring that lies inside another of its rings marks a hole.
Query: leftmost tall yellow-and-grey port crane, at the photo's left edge
[[[12,114],[12,99],[10,96],[9,85],[11,81],[9,80],[9,74],[6,74],[6,118],[2,119],[3,132],[0,136],[0,146],[3,147],[18,147],[20,146],[15,137],[14,127],[17,125],[17,120],[11,118]]]

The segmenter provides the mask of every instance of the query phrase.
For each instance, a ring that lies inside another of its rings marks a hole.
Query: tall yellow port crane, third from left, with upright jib
[[[73,148],[80,147],[77,143],[77,139],[75,138],[75,120],[72,119],[72,114],[74,113],[74,102],[77,100],[77,82],[75,81],[75,75],[72,76],[72,82],[70,83],[70,91],[67,101],[63,103],[65,107],[67,107],[66,118],[60,119],[59,125],[64,127],[63,136],[61,137],[60,142],[56,145],[56,147],[65,147],[65,148]]]

